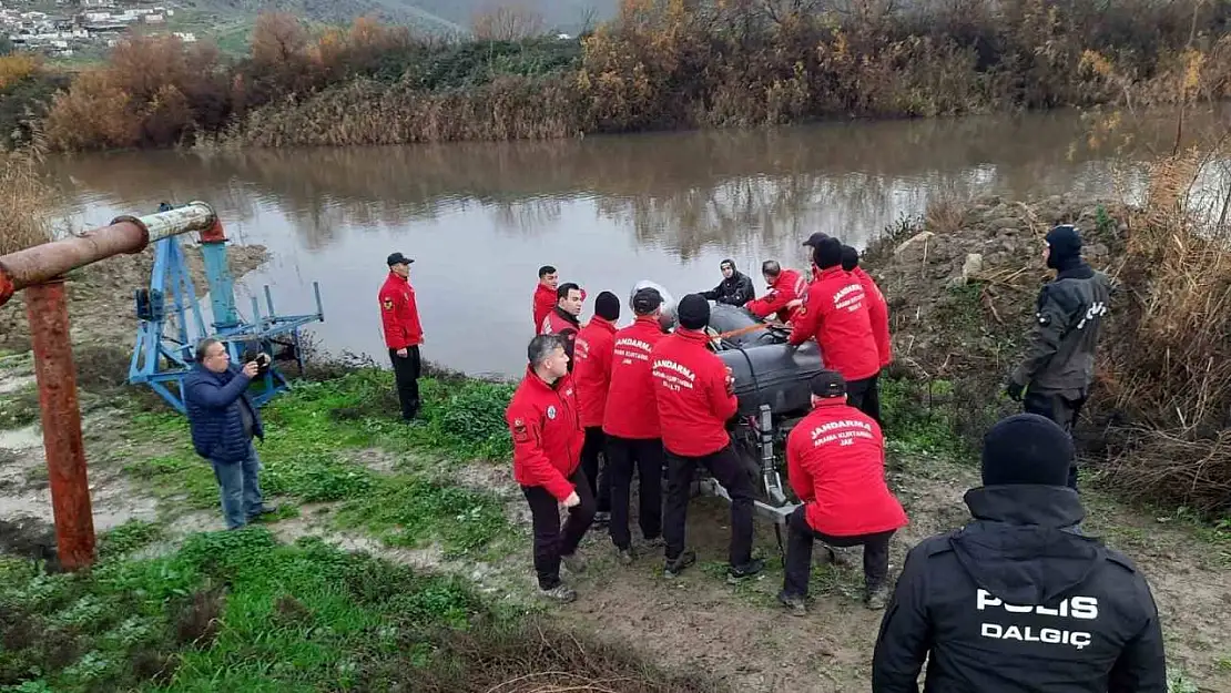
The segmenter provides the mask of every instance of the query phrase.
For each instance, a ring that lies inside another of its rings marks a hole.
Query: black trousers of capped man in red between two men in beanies
[[[662,439],[632,439],[607,437],[607,470],[611,475],[612,543],[627,549],[633,544],[628,528],[629,492],[633,469],[640,480],[638,523],[641,535],[656,539],[662,534]]]

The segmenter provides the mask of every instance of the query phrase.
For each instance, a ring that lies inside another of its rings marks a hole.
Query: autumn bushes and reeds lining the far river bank
[[[558,138],[1166,102],[1198,68],[1199,96],[1220,100],[1229,20],[1227,0],[627,0],[580,41],[459,43],[268,14],[240,60],[175,38],[122,43],[46,118],[59,149]]]

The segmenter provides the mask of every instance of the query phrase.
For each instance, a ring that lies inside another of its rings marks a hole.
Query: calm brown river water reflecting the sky
[[[263,284],[279,311],[310,311],[319,281],[326,320],[311,331],[335,353],[387,361],[375,295],[385,256],[401,251],[416,260],[423,357],[516,375],[540,265],[591,297],[624,298],[651,278],[678,298],[716,284],[730,257],[760,292],[761,261],[804,267],[799,244],[812,231],[862,246],[938,196],[1109,194],[1118,167],[1169,149],[1173,132],[1171,118],[1153,118],[1118,154],[1089,145],[1080,114],[1051,112],[549,143],[142,151],[48,165],[69,193],[70,226],[145,214],[164,199],[212,203],[233,239],[272,252],[238,283],[241,311]]]

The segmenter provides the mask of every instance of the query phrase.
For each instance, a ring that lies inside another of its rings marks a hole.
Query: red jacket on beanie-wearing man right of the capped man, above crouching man
[[[726,389],[726,366],[707,341],[704,332],[677,329],[650,355],[662,446],[681,457],[713,454],[731,442],[726,422],[739,401]]]

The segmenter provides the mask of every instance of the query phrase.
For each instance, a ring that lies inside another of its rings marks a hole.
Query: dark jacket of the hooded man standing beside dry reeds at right
[[[1080,255],[1054,254],[1056,278],[1039,292],[1025,358],[1013,382],[1037,393],[1086,399],[1094,379],[1094,350],[1110,308],[1112,281]]]

